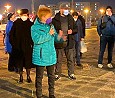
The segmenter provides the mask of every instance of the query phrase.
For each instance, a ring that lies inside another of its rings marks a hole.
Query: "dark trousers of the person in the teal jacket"
[[[55,85],[54,65],[47,66],[46,69],[47,69],[47,76],[48,76],[49,95],[54,95],[54,85]],[[36,81],[35,81],[37,98],[42,96],[43,73],[44,73],[44,66],[37,66],[36,67]]]

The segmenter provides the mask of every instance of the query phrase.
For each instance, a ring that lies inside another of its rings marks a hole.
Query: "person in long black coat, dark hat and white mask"
[[[28,9],[21,9],[20,12],[20,18],[13,23],[10,31],[10,43],[12,45],[12,54],[19,68],[20,79],[18,82],[23,83],[23,67],[25,67],[27,82],[31,83],[30,69],[32,67],[33,49],[31,26],[33,23],[29,20]]]

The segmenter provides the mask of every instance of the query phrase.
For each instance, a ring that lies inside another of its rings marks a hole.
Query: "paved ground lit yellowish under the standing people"
[[[104,68],[97,68],[99,52],[99,38],[96,28],[86,30],[86,45],[88,51],[81,59],[84,68],[75,66],[76,80],[72,81],[67,75],[66,59],[63,59],[62,77],[55,82],[56,98],[115,98],[115,69],[108,69],[107,51],[104,55]],[[4,54],[2,33],[0,33],[0,98],[36,98],[35,97],[35,69],[31,71],[33,82],[18,84],[19,75],[7,71],[8,55]],[[113,65],[115,67],[115,49],[113,51]],[[48,98],[47,73],[44,72],[43,95]]]

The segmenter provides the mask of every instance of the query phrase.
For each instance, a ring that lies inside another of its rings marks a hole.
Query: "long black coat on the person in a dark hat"
[[[30,68],[32,65],[32,38],[30,20],[23,21],[21,18],[13,23],[10,31],[10,43],[12,45],[12,53],[17,62],[25,68]]]

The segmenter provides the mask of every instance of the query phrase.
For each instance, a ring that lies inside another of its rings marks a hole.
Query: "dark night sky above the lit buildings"
[[[71,1],[71,0],[34,0],[34,1],[35,1],[35,7],[37,8],[40,4],[56,4],[59,1]],[[74,0],[74,2],[79,1],[100,2],[103,6],[111,5],[113,8],[115,8],[115,0]],[[31,0],[0,0],[0,9],[4,8],[4,5],[6,5],[7,3],[9,3],[12,6],[10,10],[20,8],[31,9]]]

